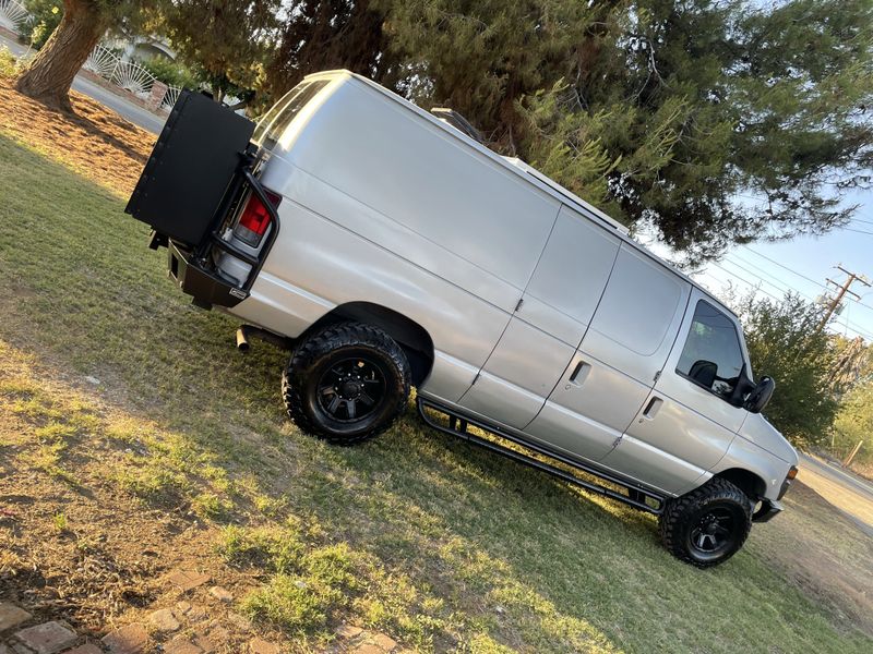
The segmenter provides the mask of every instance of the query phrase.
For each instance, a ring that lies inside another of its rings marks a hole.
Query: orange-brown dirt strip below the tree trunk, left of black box
[[[157,137],[82,94],[71,97],[75,116],[50,112],[0,76],[0,129],[118,195],[130,195]]]

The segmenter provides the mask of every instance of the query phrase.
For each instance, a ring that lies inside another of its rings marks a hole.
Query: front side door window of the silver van
[[[675,372],[727,400],[737,387],[742,367],[740,337],[733,322],[701,300]]]

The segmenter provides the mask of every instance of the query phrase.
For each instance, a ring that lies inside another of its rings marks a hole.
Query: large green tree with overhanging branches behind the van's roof
[[[870,0],[371,3],[411,98],[691,265],[827,231],[870,183]]]

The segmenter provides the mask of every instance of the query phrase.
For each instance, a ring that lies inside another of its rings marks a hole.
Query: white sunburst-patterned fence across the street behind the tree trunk
[[[17,29],[28,15],[19,0],[0,0],[0,25],[3,27]],[[155,87],[158,80],[152,73],[134,61],[122,59],[103,45],[94,49],[83,68],[147,100],[154,108],[171,109],[182,93],[177,86],[167,86],[164,89],[165,85],[159,84]],[[153,90],[156,92],[154,95]],[[160,93],[164,95],[155,97]]]

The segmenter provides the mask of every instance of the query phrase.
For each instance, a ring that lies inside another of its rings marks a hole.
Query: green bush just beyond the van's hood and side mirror
[[[838,404],[830,389],[835,349],[817,329],[822,307],[788,294],[781,302],[750,295],[739,310],[755,377],[776,380],[767,420],[796,445],[824,443]]]

